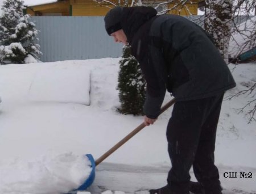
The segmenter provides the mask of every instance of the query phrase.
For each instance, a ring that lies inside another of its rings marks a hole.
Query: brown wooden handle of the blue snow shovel
[[[172,104],[175,103],[175,99],[170,100],[170,102],[166,103],[160,111],[160,114],[162,114],[164,111],[166,111],[166,109],[168,109],[169,107],[172,106]],[[146,125],[144,123],[140,124],[139,126],[137,126],[137,128],[135,128],[132,132],[130,132],[129,134],[127,134],[126,137],[124,137],[121,141],[119,141],[117,144],[115,144],[111,149],[109,149],[105,154],[103,154],[100,158],[98,158],[95,161],[95,165],[97,166],[98,164],[100,164],[102,161],[104,161],[104,159],[106,159],[107,157],[109,157],[110,154],[112,154],[115,150],[117,150],[119,147],[121,147],[123,144],[125,144],[128,140],[130,140],[130,138],[132,138],[133,136],[135,136],[135,134],[137,134],[140,130],[142,130]]]

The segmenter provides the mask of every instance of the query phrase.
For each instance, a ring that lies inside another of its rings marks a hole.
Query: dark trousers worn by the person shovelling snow
[[[172,191],[188,192],[189,170],[193,166],[205,193],[220,193],[214,149],[222,99],[223,94],[174,104],[167,126],[168,153],[172,163],[167,182]]]

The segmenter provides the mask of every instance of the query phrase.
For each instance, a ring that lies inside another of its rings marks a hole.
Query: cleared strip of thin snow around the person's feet
[[[256,193],[256,168],[218,166],[224,187],[223,194]],[[102,163],[97,166],[96,179],[88,189],[93,194],[104,191],[123,191],[127,194],[146,194],[147,189],[166,184],[168,166],[132,166]],[[237,172],[237,178],[225,178],[225,172]],[[251,172],[252,178],[240,178],[240,172]],[[191,171],[192,180],[195,180]],[[246,189],[250,188],[250,189]]]

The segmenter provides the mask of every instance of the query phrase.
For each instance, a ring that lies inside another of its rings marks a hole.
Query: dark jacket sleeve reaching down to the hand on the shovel
[[[143,51],[143,52],[142,52]],[[150,119],[156,119],[160,114],[166,94],[167,70],[160,49],[146,45],[137,56],[142,73],[147,82],[144,114]]]

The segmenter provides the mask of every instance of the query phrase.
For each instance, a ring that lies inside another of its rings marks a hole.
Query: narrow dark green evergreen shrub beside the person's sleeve
[[[123,56],[119,64],[118,90],[121,107],[118,111],[125,115],[143,115],[146,81],[138,61],[131,55],[129,46],[123,47]]]

